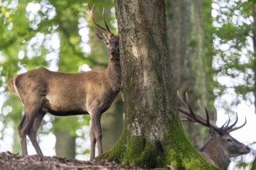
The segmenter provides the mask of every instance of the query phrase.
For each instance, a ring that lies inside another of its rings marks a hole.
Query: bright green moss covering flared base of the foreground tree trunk
[[[154,144],[143,136],[131,136],[125,128],[122,138],[110,151],[100,158],[114,161],[122,165],[137,165],[141,168],[174,169],[218,169],[209,165],[199,152],[190,145],[179,121],[168,125],[164,141]],[[182,130],[182,132],[181,132]]]

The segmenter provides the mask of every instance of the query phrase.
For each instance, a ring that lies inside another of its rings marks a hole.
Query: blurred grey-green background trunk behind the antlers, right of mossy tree
[[[182,94],[189,93],[191,105],[195,107],[195,112],[197,112],[198,108],[196,106],[199,100],[208,103],[206,97],[208,93],[206,85],[207,55],[204,48],[206,41],[208,40],[211,43],[211,39],[206,39],[204,33],[203,4],[200,0],[165,2],[167,3],[168,38],[171,42],[169,43],[169,49],[175,89]],[[211,15],[209,15],[210,17]],[[208,20],[211,22],[211,19]],[[186,122],[183,126],[195,148],[201,148],[208,140],[207,128]]]

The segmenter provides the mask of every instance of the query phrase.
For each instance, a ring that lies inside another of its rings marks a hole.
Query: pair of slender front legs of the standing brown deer
[[[95,142],[97,141],[99,155],[102,155],[102,128],[100,124],[100,112],[94,112],[90,121],[90,138],[91,138],[91,156],[95,158]]]

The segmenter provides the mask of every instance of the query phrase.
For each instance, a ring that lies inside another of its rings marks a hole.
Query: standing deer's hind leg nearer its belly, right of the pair
[[[33,121],[32,126],[29,128],[29,134],[28,134],[33,147],[36,149],[37,155],[41,155],[41,156],[43,156],[43,152],[41,151],[40,146],[38,145],[38,141],[36,139],[36,133],[37,133],[38,129],[40,128],[40,124],[41,124],[45,114],[46,113],[38,113],[36,115],[36,118]]]

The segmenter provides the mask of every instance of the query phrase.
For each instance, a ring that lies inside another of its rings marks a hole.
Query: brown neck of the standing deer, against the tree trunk
[[[121,66],[119,57],[109,56],[109,65],[106,68],[106,79],[112,90],[119,92],[121,89]]]

